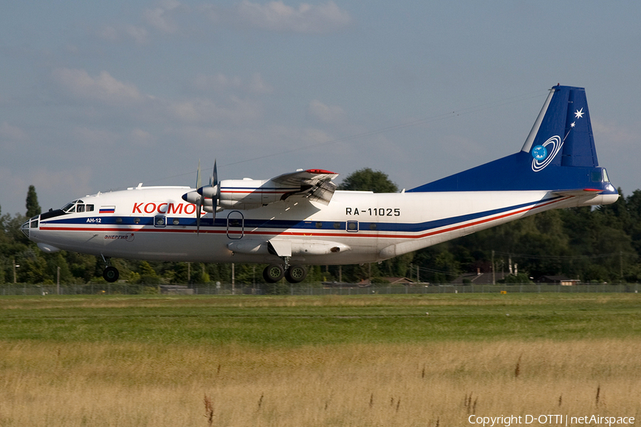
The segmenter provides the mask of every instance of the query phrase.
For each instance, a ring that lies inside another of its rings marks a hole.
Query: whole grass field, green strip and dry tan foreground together
[[[638,422],[640,309],[636,294],[4,297],[0,426]]]

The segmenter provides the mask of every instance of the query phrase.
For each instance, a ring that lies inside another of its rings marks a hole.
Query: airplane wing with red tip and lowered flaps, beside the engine
[[[299,169],[290,174],[278,175],[271,181],[283,186],[298,187],[300,190],[283,195],[283,199],[291,196],[303,196],[312,201],[329,204],[337,186],[332,182],[338,174],[324,169]]]

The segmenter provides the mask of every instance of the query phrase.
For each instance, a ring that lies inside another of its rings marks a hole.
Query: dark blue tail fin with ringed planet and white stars
[[[408,191],[579,189],[616,193],[598,166],[585,89],[557,85],[520,152]]]

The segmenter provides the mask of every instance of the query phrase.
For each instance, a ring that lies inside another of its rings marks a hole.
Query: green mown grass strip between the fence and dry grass
[[[304,346],[637,337],[638,295],[11,297],[0,340]]]

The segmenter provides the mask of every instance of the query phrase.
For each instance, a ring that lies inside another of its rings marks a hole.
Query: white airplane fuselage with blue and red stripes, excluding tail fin
[[[288,256],[299,264],[368,263],[548,209],[607,204],[617,197],[336,191],[327,206],[292,197],[257,209],[219,211],[215,223],[214,215],[203,213],[197,228],[196,206],[182,199],[190,190],[138,187],[85,196],[81,202],[93,211],[32,220],[29,238],[44,250],[118,258],[272,263]]]

